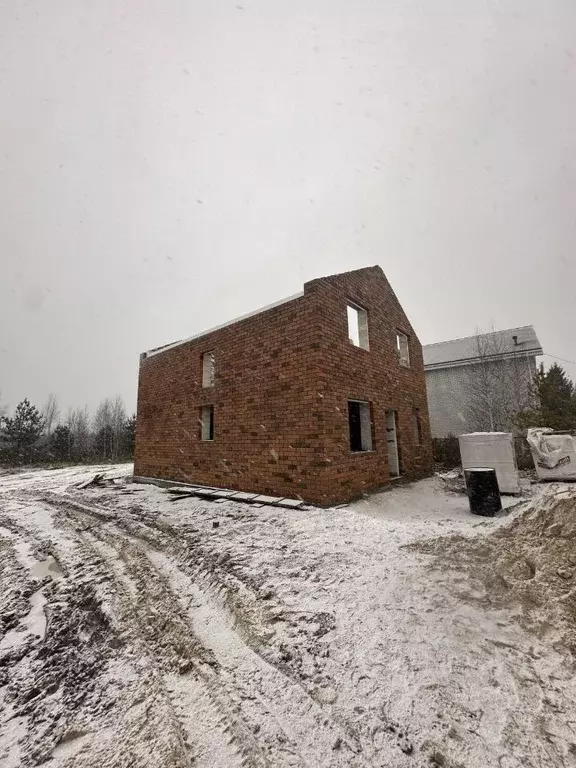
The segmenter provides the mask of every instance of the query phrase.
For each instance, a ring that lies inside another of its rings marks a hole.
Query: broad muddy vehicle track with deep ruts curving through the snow
[[[146,741],[157,749],[160,764],[170,768],[369,764],[352,730],[331,718],[329,708],[306,691],[290,667],[266,658],[273,616],[266,615],[262,601],[234,573],[233,563],[218,562],[220,556],[209,546],[199,541],[193,546],[193,536],[183,541],[181,532],[162,523],[143,523],[126,512],[116,516],[90,502],[52,494],[44,495],[42,503],[55,513],[66,540],[74,542],[66,551],[49,542],[68,578],[48,595],[48,635],[63,618],[57,606],[65,597],[67,604],[82,606],[82,615],[90,607],[99,617],[102,642],[92,672],[113,668],[118,659],[145,671],[143,680],[121,687],[110,705],[120,713],[114,728],[125,740],[127,765],[135,746],[125,710],[135,707],[134,700],[147,708]],[[11,526],[31,546],[38,545],[33,531],[14,518]],[[37,655],[41,650],[36,649]],[[33,678],[44,699],[47,687],[48,696],[63,688],[62,680],[53,680],[50,687],[40,673]],[[96,678],[92,674],[91,684],[97,685]],[[63,764],[74,758],[75,766],[96,765],[92,760],[99,750],[83,742],[89,729],[74,730],[73,710],[74,702],[55,709],[49,738],[39,749],[42,729],[36,721],[42,721],[45,707],[36,702],[31,709],[21,708],[21,714],[37,715],[23,764],[45,759],[52,749]],[[47,719],[50,725],[50,715]],[[101,720],[106,727],[109,719]],[[58,721],[68,725],[59,728]],[[139,727],[141,739],[144,724]],[[74,742],[77,751],[64,748]],[[102,748],[99,759],[106,754]]]

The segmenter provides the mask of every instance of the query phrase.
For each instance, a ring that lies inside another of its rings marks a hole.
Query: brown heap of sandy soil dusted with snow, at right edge
[[[512,608],[526,629],[576,655],[576,488],[551,486],[488,536],[455,534],[411,548],[467,572],[460,598]]]

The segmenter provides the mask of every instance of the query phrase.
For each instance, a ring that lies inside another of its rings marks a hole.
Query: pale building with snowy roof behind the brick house
[[[422,347],[432,437],[508,431],[543,354],[531,325]]]

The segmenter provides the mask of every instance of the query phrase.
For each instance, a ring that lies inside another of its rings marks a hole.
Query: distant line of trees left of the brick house
[[[118,395],[89,408],[61,412],[55,395],[37,408],[24,398],[9,415],[0,404],[0,463],[129,461],[134,454],[136,415]]]

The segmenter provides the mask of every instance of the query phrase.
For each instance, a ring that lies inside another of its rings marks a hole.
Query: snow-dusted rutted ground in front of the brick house
[[[576,765],[573,658],[442,563],[526,503],[256,509],[130,471],[0,476],[2,768]]]

